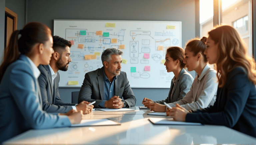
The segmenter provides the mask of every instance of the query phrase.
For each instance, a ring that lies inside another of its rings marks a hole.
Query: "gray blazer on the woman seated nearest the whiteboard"
[[[170,88],[168,97],[165,100],[154,101],[154,102],[159,104],[164,104],[164,102],[173,103],[173,102],[179,101],[190,90],[193,80],[194,78],[191,76],[191,74],[189,74],[185,69],[182,68],[177,78],[175,86],[173,87],[174,83],[173,82],[171,83],[171,88]],[[173,92],[172,92],[172,89],[174,89]],[[171,93],[172,93],[172,97],[171,97]]]

